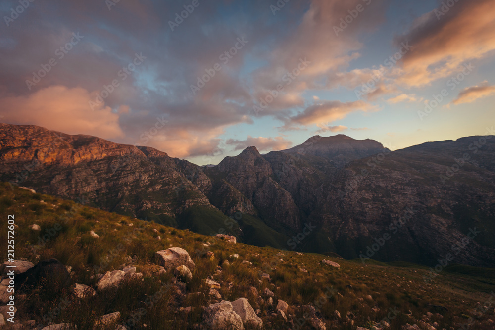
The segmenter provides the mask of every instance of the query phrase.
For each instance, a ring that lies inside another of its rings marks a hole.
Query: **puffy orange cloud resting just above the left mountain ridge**
[[[108,106],[91,111],[91,94],[83,88],[52,86],[29,96],[0,99],[12,124],[35,124],[67,134],[88,134],[103,139],[124,136],[119,115]],[[121,109],[125,111],[125,107]]]

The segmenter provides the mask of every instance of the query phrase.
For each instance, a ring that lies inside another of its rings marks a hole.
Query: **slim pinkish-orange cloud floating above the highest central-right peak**
[[[341,102],[341,101],[323,101],[307,107],[304,111],[289,118],[288,125],[316,125],[325,128],[328,123],[345,118],[348,114],[357,111],[376,111],[377,106],[371,105],[365,101]]]

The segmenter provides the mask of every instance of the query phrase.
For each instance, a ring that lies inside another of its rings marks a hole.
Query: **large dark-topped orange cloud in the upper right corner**
[[[397,82],[410,87],[429,85],[495,49],[493,0],[455,1],[452,7],[445,2],[416,19],[396,39],[397,44],[412,46],[401,60]]]

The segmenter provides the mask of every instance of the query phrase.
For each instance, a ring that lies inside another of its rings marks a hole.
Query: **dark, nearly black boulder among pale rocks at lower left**
[[[62,287],[68,287],[70,285],[70,273],[65,265],[57,259],[48,259],[40,261],[36,266],[15,277],[15,287],[19,293],[28,292],[40,283],[43,285],[56,283]]]

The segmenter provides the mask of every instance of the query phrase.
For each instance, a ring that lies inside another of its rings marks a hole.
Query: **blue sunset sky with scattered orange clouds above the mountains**
[[[198,165],[494,126],[493,0],[3,0],[0,121]]]

